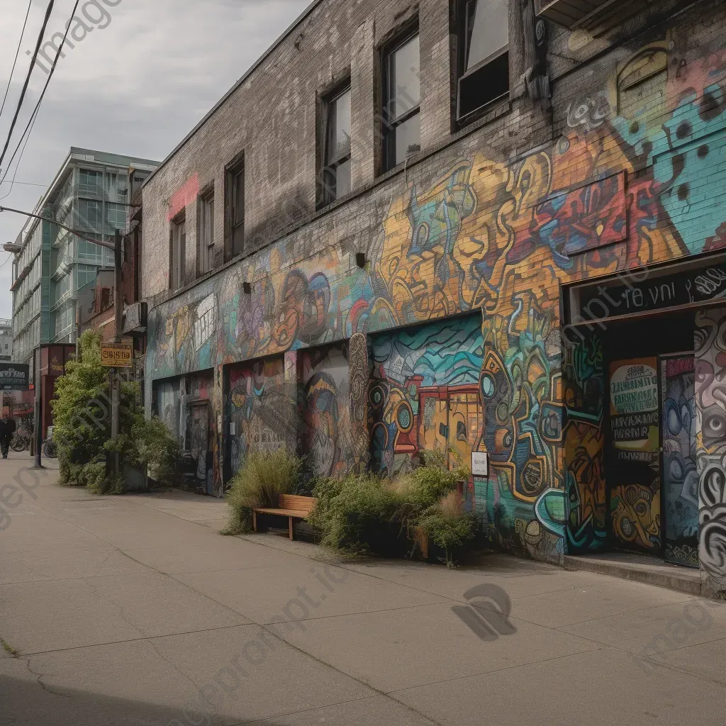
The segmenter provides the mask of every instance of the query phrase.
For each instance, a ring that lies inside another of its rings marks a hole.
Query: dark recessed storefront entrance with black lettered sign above
[[[706,360],[718,356],[708,309],[716,315],[725,294],[726,262],[639,274],[568,291],[577,326],[563,367],[568,547],[698,567],[697,460],[709,453],[699,444],[699,411],[706,425],[711,399],[697,388],[708,383]]]

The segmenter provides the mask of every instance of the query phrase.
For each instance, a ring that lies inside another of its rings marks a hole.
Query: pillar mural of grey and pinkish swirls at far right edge
[[[696,466],[703,594],[726,598],[726,309],[696,315]]]

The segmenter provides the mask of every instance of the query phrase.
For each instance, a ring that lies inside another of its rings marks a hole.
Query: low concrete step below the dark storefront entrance
[[[625,552],[566,555],[564,564],[566,570],[597,572],[701,595],[701,573],[696,568],[673,565],[647,555],[629,555]]]

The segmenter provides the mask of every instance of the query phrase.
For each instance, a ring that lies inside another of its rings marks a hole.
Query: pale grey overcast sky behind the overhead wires
[[[55,1],[46,38],[65,30],[74,1]],[[1,102],[28,1],[0,4]],[[0,205],[33,211],[46,190],[43,185],[52,181],[71,146],[163,160],[309,4],[310,0],[81,0],[77,15],[83,17],[86,9],[83,23],[90,32],[71,25],[82,39],[73,41],[73,49],[58,62],[15,184],[11,188],[6,181],[0,187]],[[32,0],[0,116],[1,144],[28,70],[25,52],[35,47],[47,5],[48,0]],[[8,158],[46,78],[36,66]],[[5,166],[7,159],[3,173]],[[8,179],[14,174],[15,163]],[[15,241],[24,223],[17,214],[0,213],[0,245]],[[0,249],[0,265],[9,257]],[[12,316],[10,284],[7,262],[0,267],[0,317]]]

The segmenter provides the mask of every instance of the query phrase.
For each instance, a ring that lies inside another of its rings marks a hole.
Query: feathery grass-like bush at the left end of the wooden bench
[[[250,531],[253,508],[277,507],[280,494],[294,492],[301,465],[301,460],[286,449],[248,454],[224,495],[231,514],[221,534]]]

